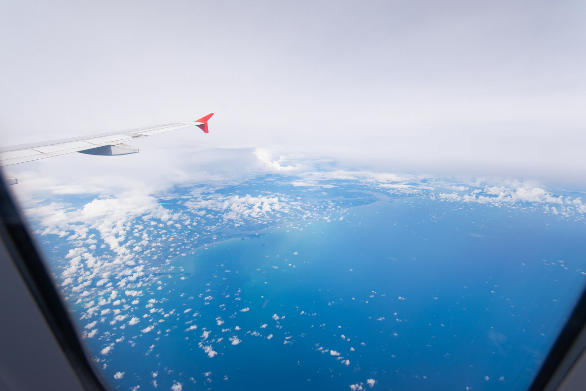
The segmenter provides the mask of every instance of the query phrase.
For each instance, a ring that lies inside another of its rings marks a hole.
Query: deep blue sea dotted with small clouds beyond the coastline
[[[529,386],[584,285],[584,223],[418,198],[343,215],[177,257],[161,289],[145,285],[139,322],[108,335],[127,343],[105,376],[124,372],[122,389]],[[86,341],[96,355],[107,343]]]

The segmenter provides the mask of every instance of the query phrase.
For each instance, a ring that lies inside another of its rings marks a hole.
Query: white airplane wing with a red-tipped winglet
[[[196,126],[203,130],[203,132],[208,133],[207,120],[212,115],[214,114],[207,114],[205,117],[199,118],[199,120],[193,123],[156,125],[120,132],[93,134],[86,137],[64,138],[63,140],[0,147],[0,166],[30,162],[70,154],[72,152],[103,156],[135,154],[138,152],[138,149],[124,144],[125,142],[192,126]]]

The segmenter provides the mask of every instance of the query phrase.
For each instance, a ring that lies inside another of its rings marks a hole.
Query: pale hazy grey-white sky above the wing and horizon
[[[157,137],[579,182],[584,21],[584,1],[2,1],[0,144],[214,112]]]

